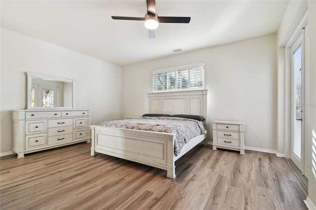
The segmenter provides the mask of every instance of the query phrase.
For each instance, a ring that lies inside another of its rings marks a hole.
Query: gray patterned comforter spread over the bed
[[[142,117],[112,120],[100,124],[105,127],[127,128],[174,134],[174,154],[177,156],[184,144],[192,138],[206,134],[203,122],[182,117]]]

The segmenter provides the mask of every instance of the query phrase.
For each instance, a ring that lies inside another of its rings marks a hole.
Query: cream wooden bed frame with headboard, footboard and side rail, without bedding
[[[200,115],[206,127],[207,90],[149,93],[149,113]],[[102,153],[167,171],[175,178],[175,161],[204,140],[207,134],[194,137],[175,154],[175,135],[128,128],[91,127],[91,155]]]

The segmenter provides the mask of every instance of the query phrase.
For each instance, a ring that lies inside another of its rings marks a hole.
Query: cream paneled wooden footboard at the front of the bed
[[[153,166],[175,178],[173,134],[91,126],[91,155],[95,152]]]

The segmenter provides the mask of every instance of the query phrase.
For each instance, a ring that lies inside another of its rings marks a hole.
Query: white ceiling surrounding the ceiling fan
[[[156,0],[160,16],[191,17],[162,23],[148,38],[146,0],[1,0],[1,27],[31,35],[119,66],[275,33],[287,0]]]

